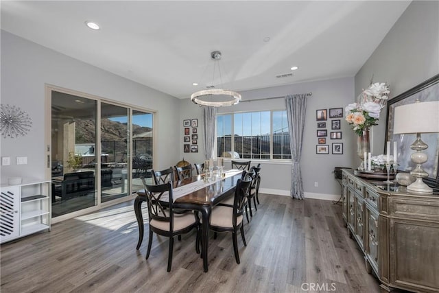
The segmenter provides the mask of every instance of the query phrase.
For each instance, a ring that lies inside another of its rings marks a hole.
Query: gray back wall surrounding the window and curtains
[[[340,195],[340,185],[334,180],[334,167],[352,167],[355,165],[356,142],[355,134],[350,130],[348,124],[342,119],[342,139],[331,140],[327,137],[329,145],[329,154],[316,154],[316,137],[317,121],[316,110],[329,108],[344,108],[351,103],[354,95],[353,78],[341,78],[335,80],[324,80],[320,82],[304,82],[300,84],[291,84],[285,86],[276,86],[272,88],[259,89],[254,91],[242,91],[243,101],[251,99],[260,99],[265,97],[279,97],[291,95],[294,93],[309,93],[307,103],[307,119],[305,123],[304,145],[302,149],[302,174],[305,188],[305,196],[317,198],[334,198]],[[182,119],[198,118],[198,139],[201,143],[203,137],[201,134],[202,110],[199,106],[191,103],[189,99],[180,101]],[[241,102],[235,106],[219,108],[219,113],[243,112],[253,110],[285,110],[284,99],[272,99],[258,102]],[[331,132],[331,119],[327,121],[328,135]],[[181,126],[181,132],[183,128]],[[180,154],[191,163],[202,162],[204,160],[204,149],[200,145],[198,154],[187,154],[182,152],[183,134],[180,135]],[[344,153],[331,154],[331,143],[344,143]],[[254,164],[261,163],[262,181],[261,189],[265,192],[275,194],[289,194],[291,185],[291,163],[289,162],[268,162],[254,160]],[[228,165],[226,161],[225,165]],[[253,165],[253,164],[252,164]],[[314,182],[318,182],[318,187],[314,187]]]

